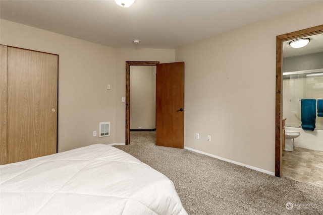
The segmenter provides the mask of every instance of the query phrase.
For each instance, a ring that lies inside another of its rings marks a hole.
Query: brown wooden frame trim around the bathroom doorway
[[[282,177],[283,157],[283,42],[323,32],[323,25],[295,31],[276,38],[276,129],[275,129],[275,175]]]

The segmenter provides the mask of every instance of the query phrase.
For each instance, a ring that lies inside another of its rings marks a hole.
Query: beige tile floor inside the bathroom
[[[283,151],[283,177],[323,187],[323,152],[297,147]]]

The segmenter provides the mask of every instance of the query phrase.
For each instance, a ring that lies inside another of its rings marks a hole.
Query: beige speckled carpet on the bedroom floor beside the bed
[[[323,214],[322,188],[155,146],[153,131],[132,131],[130,137],[129,146],[115,147],[169,177],[188,214]]]

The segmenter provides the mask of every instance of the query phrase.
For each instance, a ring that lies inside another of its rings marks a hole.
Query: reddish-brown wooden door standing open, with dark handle
[[[184,148],[184,62],[157,64],[156,145]]]

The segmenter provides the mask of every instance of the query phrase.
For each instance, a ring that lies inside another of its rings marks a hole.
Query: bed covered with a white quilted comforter
[[[173,182],[96,144],[0,165],[0,214],[187,214]]]

